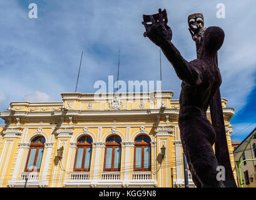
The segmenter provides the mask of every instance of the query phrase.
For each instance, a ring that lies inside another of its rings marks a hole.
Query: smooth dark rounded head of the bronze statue
[[[205,29],[205,32],[203,33],[203,49],[207,51],[207,53],[217,53],[218,49],[222,47],[224,37],[225,33],[220,27],[208,27],[207,29]]]

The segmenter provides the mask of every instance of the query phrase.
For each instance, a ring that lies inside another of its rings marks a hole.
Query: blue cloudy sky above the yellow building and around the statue
[[[225,5],[218,18],[217,4]],[[29,4],[38,18],[29,18]],[[143,37],[143,14],[166,9],[172,42],[187,61],[196,58],[187,17],[202,12],[205,26],[220,26],[225,41],[218,52],[220,87],[231,119],[232,139],[242,141],[256,126],[256,1],[171,0],[1,0],[0,111],[12,101],[61,101],[60,93],[74,92],[81,52],[78,92],[95,93],[98,80],[160,80],[159,48]],[[161,56],[162,89],[180,95],[180,79]],[[0,119],[0,124],[4,121]]]

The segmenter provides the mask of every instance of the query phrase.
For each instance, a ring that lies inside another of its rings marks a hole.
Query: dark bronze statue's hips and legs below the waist
[[[223,187],[217,180],[218,161],[213,152],[215,132],[205,116],[180,119],[180,136],[195,184],[202,187]]]

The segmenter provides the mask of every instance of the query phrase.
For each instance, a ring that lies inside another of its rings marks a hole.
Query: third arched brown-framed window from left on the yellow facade
[[[106,141],[104,171],[120,171],[121,139],[110,136]]]

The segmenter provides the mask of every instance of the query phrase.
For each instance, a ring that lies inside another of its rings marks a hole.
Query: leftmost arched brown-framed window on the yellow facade
[[[44,153],[45,139],[39,136],[33,139],[30,144],[28,159],[25,171],[39,171]]]

